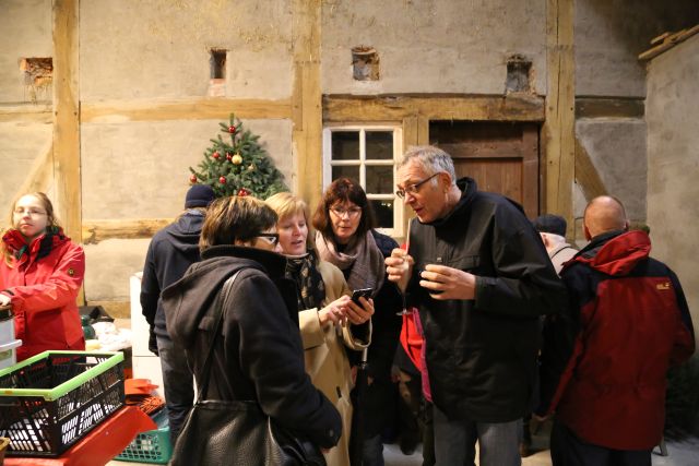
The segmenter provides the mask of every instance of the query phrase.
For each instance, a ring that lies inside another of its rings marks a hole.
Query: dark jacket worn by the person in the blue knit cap
[[[151,325],[149,349],[157,354],[154,335],[169,338],[165,314],[159,302],[161,291],[185,275],[187,268],[201,260],[199,236],[204,214],[190,210],[176,222],[155,234],[143,265],[141,311]]]

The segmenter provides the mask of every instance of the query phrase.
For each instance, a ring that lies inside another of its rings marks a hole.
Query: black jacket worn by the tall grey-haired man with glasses
[[[445,218],[413,220],[410,300],[419,308],[433,401],[450,419],[507,422],[532,407],[540,319],[565,306],[565,289],[540,235],[513,201],[458,182]],[[418,285],[427,264],[476,275],[474,300],[437,301]]]

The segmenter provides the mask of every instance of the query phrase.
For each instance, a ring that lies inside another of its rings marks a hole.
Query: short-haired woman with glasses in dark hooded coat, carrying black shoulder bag
[[[284,277],[276,220],[270,206],[251,196],[210,205],[202,261],[163,291],[167,331],[196,377],[217,337],[205,399],[254,401],[276,423],[330,449],[340,440],[342,420],[306,374],[296,285]],[[213,335],[214,302],[236,273],[223,302],[221,334]]]

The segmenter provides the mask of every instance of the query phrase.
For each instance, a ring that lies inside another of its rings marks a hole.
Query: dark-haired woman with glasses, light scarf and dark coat
[[[375,220],[367,195],[359,183],[350,178],[333,181],[313,215],[316,248],[320,259],[336,265],[352,289],[372,288],[374,332],[367,355],[367,387],[360,395],[362,450],[365,466],[383,466],[381,432],[392,420],[395,386],[391,365],[401,331],[403,308],[398,288],[386,279],[383,260],[398,243],[374,229]],[[353,355],[357,363],[359,355]],[[356,440],[356,439],[355,439]],[[354,442],[354,440],[353,440]]]

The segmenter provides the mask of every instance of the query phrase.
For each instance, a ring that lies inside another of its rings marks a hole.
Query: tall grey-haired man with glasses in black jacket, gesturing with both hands
[[[417,215],[389,279],[419,309],[437,466],[521,464],[519,425],[532,408],[540,315],[565,306],[546,250],[513,201],[457,180],[451,157],[411,148],[398,191]]]

